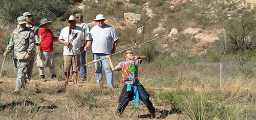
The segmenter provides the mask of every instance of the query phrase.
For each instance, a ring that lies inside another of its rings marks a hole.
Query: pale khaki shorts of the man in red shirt
[[[41,51],[39,55],[36,55],[37,62],[36,66],[38,67],[54,67],[55,66],[55,55],[53,51]]]

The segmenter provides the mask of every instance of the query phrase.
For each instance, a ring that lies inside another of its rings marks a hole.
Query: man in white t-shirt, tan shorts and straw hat
[[[69,17],[69,26],[64,27],[59,35],[59,42],[63,45],[65,85],[68,85],[70,68],[73,69],[74,86],[77,85],[77,73],[80,71],[80,52],[83,48],[84,30],[76,26],[79,22],[73,15]]]

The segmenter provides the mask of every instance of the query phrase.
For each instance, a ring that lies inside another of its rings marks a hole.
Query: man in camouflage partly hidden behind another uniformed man
[[[32,24],[32,14],[30,12],[25,12],[23,13],[23,16],[26,18],[27,24],[26,26],[30,29],[32,29],[32,31],[34,32],[34,36],[35,36],[35,41],[39,41],[39,38],[37,36],[38,33],[38,28],[36,25]],[[17,28],[19,28],[19,25],[17,25]],[[29,65],[28,65],[28,71],[26,74],[26,80],[25,82],[27,83],[28,81],[30,81],[31,79],[31,75],[32,75],[32,70],[33,70],[33,65],[35,62],[35,53],[31,53],[30,58],[29,58]],[[13,61],[14,62],[14,61]],[[16,63],[14,63],[14,65],[16,65]],[[16,72],[16,76],[17,76],[17,66],[14,66],[14,70]]]

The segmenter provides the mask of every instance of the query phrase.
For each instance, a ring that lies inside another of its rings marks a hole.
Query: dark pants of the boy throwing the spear
[[[123,89],[124,91],[126,91],[126,87],[124,87],[125,89]],[[156,108],[153,107],[152,102],[150,101],[150,97],[146,95],[143,87],[141,85],[137,86],[138,88],[138,92],[140,95],[140,100],[146,105],[148,111],[150,111],[150,113],[155,113],[156,112]],[[120,98],[122,97],[123,94],[120,95]],[[119,105],[119,107],[117,108],[116,112],[122,114],[122,112],[124,111],[125,107],[128,105],[129,100],[133,100],[133,95],[134,92],[129,93],[128,97],[126,97],[123,102],[121,103],[121,105]],[[119,103],[120,104],[120,103]]]

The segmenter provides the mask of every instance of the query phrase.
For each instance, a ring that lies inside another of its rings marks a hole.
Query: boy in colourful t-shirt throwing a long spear
[[[123,55],[126,58],[125,61],[120,62],[116,67],[113,66],[110,56],[107,56],[110,62],[111,69],[113,71],[122,70],[123,74],[123,89],[119,97],[118,108],[115,112],[115,117],[121,118],[121,114],[125,107],[128,105],[129,101],[134,100],[135,105],[139,105],[140,100],[146,105],[148,111],[156,117],[160,117],[161,113],[156,111],[150,101],[150,95],[146,92],[145,88],[139,82],[137,73],[138,66],[141,64],[142,60],[146,59],[145,56],[134,56],[132,50],[123,51]]]

